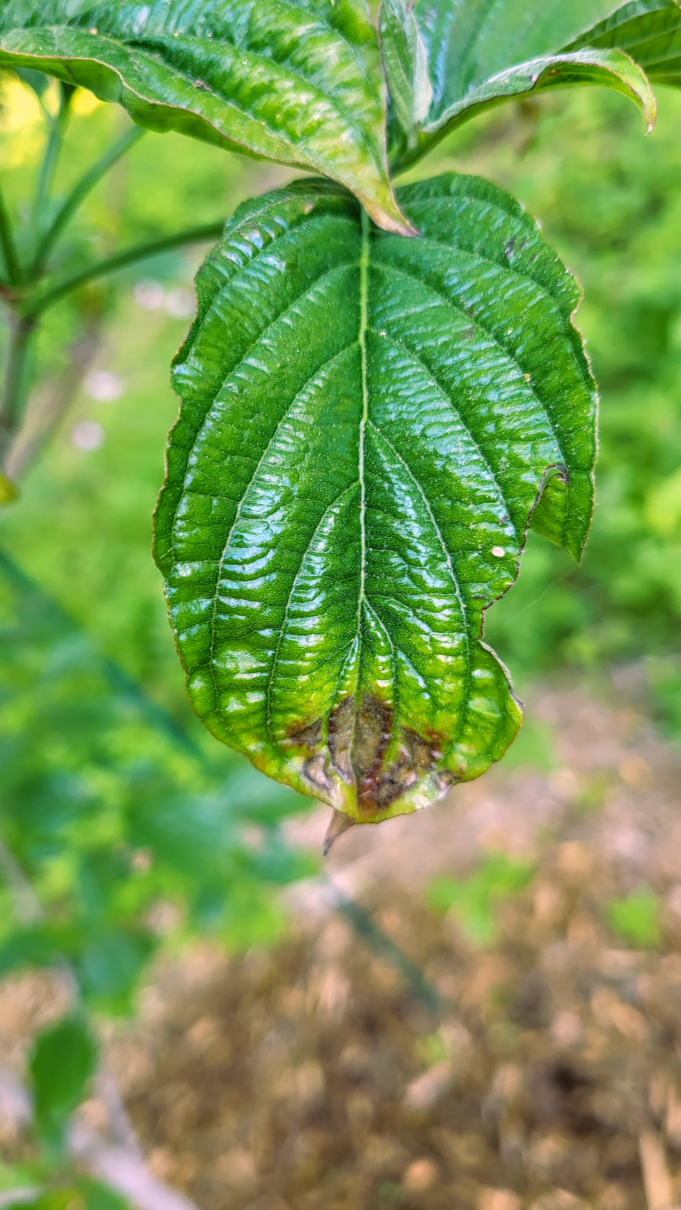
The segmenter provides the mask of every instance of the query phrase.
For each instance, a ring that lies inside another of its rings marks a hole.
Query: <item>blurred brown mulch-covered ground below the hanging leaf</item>
[[[157,1175],[202,1210],[681,1202],[681,766],[622,704],[635,688],[623,678],[610,705],[539,697],[531,714],[559,737],[550,772],[502,766],[334,846],[327,872],[419,964],[439,1012],[321,882],[289,895],[275,952],[165,960],[110,1044]],[[316,812],[292,834],[317,846],[325,823]],[[484,849],[536,874],[480,947],[423,889]],[[650,950],[605,922],[641,883],[660,897]]]

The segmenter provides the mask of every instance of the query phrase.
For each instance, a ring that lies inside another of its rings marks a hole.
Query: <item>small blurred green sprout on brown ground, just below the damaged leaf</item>
[[[428,906],[432,911],[450,912],[474,945],[492,945],[497,939],[497,905],[529,886],[533,874],[533,866],[526,862],[514,862],[506,853],[489,853],[467,878],[434,878],[428,888]]]

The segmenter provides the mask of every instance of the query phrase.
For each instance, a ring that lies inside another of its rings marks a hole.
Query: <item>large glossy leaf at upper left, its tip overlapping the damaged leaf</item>
[[[365,0],[10,0],[0,65],[90,88],[149,129],[321,172],[408,234]]]

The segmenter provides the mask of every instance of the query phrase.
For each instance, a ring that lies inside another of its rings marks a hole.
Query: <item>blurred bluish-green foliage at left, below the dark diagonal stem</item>
[[[41,911],[2,912],[0,972],[62,955],[125,1012],[166,932],[277,934],[272,891],[310,869],[278,824],[306,800],[200,741],[0,554],[0,837]]]

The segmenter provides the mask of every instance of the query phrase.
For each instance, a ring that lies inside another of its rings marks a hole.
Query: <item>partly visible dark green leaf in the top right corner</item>
[[[681,5],[631,0],[578,38],[567,50],[618,47],[659,83],[681,83]]]

